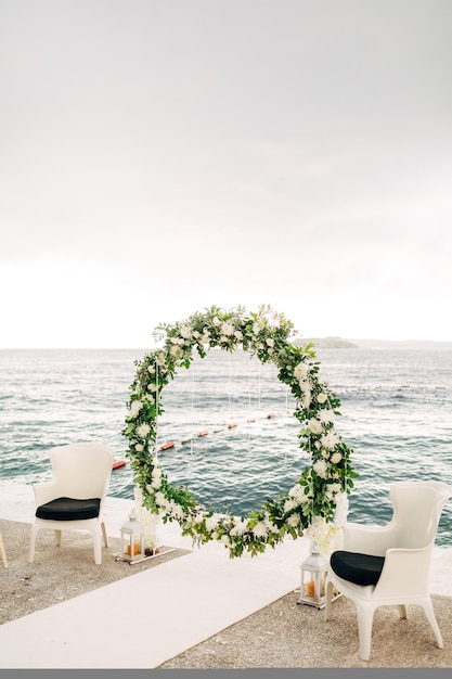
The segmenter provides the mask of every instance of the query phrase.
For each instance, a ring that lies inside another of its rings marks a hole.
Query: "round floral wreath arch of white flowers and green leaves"
[[[177,521],[182,535],[198,545],[221,541],[231,558],[245,551],[261,553],[286,535],[315,539],[326,553],[340,537],[347,517],[347,496],[358,474],[350,463],[352,450],[334,426],[340,401],[318,379],[313,345],[292,344],[288,338],[295,334],[293,323],[267,305],[251,313],[244,307],[231,311],[211,307],[173,325],[158,325],[154,336],[163,341],[162,348],[134,362],[137,373],[122,434],[129,439],[127,453],[140,502],[164,523]],[[231,353],[242,347],[262,363],[276,366],[279,380],[295,397],[293,414],[301,427],[300,448],[310,461],[289,490],[267,500],[248,516],[207,511],[189,488],[172,486],[158,464],[157,419],[164,412],[163,388],[178,368],[190,368],[194,350],[205,358],[212,347]]]

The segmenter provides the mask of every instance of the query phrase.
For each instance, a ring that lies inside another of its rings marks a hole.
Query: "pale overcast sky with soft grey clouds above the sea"
[[[1,0],[2,347],[452,340],[450,0]]]

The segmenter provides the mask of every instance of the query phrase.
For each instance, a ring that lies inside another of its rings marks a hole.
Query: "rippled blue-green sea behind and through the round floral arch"
[[[126,402],[134,360],[143,356],[139,349],[0,350],[0,481],[48,481],[49,449],[73,441],[105,441],[117,460],[127,460]],[[388,521],[393,481],[452,484],[452,350],[319,349],[318,359],[321,381],[340,397],[336,426],[360,475],[350,521]],[[309,463],[276,369],[241,350],[212,350],[181,368],[162,397],[157,445],[175,446],[159,461],[172,483],[186,484],[207,507],[257,510]],[[128,460],[113,472],[109,495],[133,498]],[[437,545],[452,547],[452,500]]]

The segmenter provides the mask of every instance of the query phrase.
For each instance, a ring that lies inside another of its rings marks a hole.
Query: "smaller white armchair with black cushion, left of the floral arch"
[[[53,529],[61,545],[62,530],[89,530],[94,562],[102,563],[102,536],[108,546],[102,511],[108,491],[114,452],[103,444],[69,444],[49,452],[52,481],[33,486],[36,518],[31,526],[28,561],[35,558],[39,530]]]

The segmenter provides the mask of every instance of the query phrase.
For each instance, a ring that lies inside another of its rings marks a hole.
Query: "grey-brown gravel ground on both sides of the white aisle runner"
[[[9,568],[0,563],[0,624],[78,597],[144,568],[158,567],[186,553],[175,550],[130,566],[115,561],[120,541],[109,539],[103,563],[94,564],[92,540],[85,534],[63,534],[61,548],[51,531],[38,534],[34,563],[28,563],[29,524],[1,521]],[[163,548],[165,550],[167,548]],[[371,661],[358,656],[354,604],[339,598],[332,619],[324,611],[297,604],[294,591],[232,625],[203,643],[164,663],[160,669],[297,668],[297,667],[451,667],[452,599],[434,595],[444,648],[438,649],[422,608],[408,607],[399,620],[396,608],[376,611]]]

